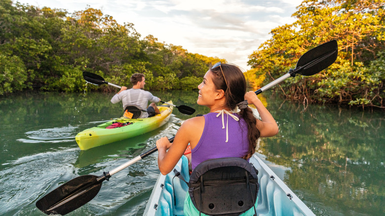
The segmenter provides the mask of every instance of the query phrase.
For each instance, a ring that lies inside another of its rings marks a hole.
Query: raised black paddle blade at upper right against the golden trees
[[[311,76],[332,65],[338,56],[337,40],[331,40],[306,52],[297,62],[294,72]]]

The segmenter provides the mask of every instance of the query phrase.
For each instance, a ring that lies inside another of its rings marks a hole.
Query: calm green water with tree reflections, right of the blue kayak
[[[383,113],[269,101],[280,132],[259,152],[291,168],[284,181],[316,215],[384,213]]]

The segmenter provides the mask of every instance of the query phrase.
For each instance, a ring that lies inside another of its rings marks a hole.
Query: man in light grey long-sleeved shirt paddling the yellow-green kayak
[[[123,109],[127,106],[134,106],[141,109],[142,114],[139,118],[152,117],[159,113],[159,109],[156,107],[155,103],[160,102],[160,99],[153,96],[150,92],[143,90],[144,85],[146,84],[145,80],[145,75],[143,73],[132,74],[130,78],[133,85],[132,88],[127,89],[127,87],[122,86],[120,91],[111,99],[111,103],[116,104],[121,101],[123,103]],[[147,108],[149,101],[153,103]]]

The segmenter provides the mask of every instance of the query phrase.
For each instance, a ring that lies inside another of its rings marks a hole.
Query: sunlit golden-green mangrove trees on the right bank
[[[309,49],[336,39],[339,57],[328,69],[282,82],[285,97],[308,102],[385,108],[385,3],[381,0],[304,0],[297,21],[271,31],[249,57],[257,74],[271,81],[294,68]]]

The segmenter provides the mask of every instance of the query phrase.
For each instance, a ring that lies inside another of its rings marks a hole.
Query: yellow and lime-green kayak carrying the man
[[[167,102],[172,104],[171,101]],[[125,140],[136,137],[163,126],[171,117],[173,106],[163,104],[158,107],[160,114],[150,118],[117,118],[96,127],[86,129],[78,133],[75,137],[80,150],[87,150],[96,146],[114,143],[116,141]],[[114,122],[131,123],[123,127],[107,129]]]

